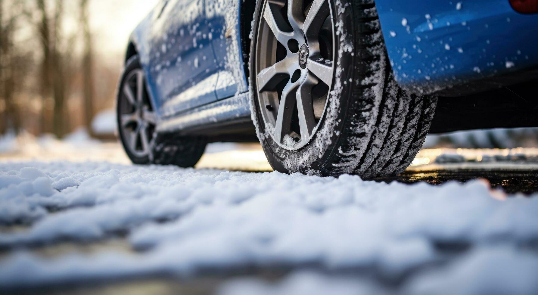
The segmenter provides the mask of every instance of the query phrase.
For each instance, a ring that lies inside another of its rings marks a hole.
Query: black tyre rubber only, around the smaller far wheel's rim
[[[151,144],[150,152],[144,156],[138,156],[136,152],[131,150],[131,147],[126,142],[124,127],[122,127],[121,116],[125,113],[125,94],[122,91],[124,85],[134,71],[141,69],[140,61],[137,55],[130,58],[125,64],[125,70],[119,83],[117,92],[117,124],[118,136],[123,145],[125,153],[134,164],[161,164],[161,165],[177,165],[180,167],[193,167],[200,160],[204,150],[206,149],[206,139],[203,137],[179,137],[173,134],[157,134],[154,127],[150,129]],[[150,110],[153,110],[151,100],[144,90],[144,103],[147,104]],[[156,122],[155,122],[156,124]]]

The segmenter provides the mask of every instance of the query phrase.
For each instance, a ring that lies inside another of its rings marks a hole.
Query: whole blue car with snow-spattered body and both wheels
[[[401,173],[428,132],[538,126],[538,0],[161,0],[117,95],[133,163],[259,141],[285,173]]]

